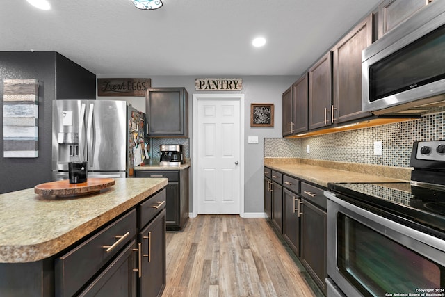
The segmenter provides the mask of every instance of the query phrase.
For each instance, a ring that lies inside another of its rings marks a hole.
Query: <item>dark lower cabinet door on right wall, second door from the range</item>
[[[295,254],[300,256],[300,196],[283,189],[283,237]]]

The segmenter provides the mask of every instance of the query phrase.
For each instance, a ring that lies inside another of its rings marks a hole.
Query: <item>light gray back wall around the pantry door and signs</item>
[[[98,78],[106,78],[106,75]],[[114,77],[123,77],[114,76]],[[150,76],[152,87],[185,87],[188,91],[189,104],[189,137],[191,138],[192,122],[192,97],[193,93],[204,93],[195,91],[195,79],[209,76]],[[215,76],[210,76],[215,77]],[[218,76],[221,77],[221,76]],[[228,75],[225,77],[236,77]],[[244,211],[245,213],[259,214],[264,212],[263,202],[263,156],[264,138],[282,137],[282,93],[298,79],[297,76],[248,76],[242,77],[243,90],[229,93],[241,93],[245,96],[245,152],[244,152]],[[209,91],[205,93],[222,93],[221,91]],[[127,100],[133,107],[140,111],[145,111],[145,97],[97,97],[97,99],[118,99]],[[274,127],[250,127],[250,104],[251,103],[273,103],[275,104]],[[248,136],[258,136],[258,144],[248,144]],[[191,148],[193,150],[193,148]],[[190,209],[190,212],[192,209]]]

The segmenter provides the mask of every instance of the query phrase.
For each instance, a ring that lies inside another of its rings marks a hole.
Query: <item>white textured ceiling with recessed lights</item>
[[[2,0],[0,51],[58,51],[97,75],[299,75],[379,0]],[[252,38],[263,35],[265,47]]]

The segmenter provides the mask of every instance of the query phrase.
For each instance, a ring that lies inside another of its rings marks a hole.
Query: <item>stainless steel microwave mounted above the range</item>
[[[433,1],[362,52],[362,107],[376,115],[445,106],[445,1]]]

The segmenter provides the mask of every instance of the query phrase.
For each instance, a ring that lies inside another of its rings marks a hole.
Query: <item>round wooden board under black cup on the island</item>
[[[75,196],[86,195],[108,188],[115,184],[111,178],[88,178],[86,182],[70,184],[70,180],[63,179],[56,182],[38,184],[34,187],[34,193],[39,195]]]

